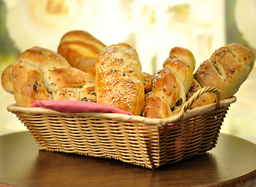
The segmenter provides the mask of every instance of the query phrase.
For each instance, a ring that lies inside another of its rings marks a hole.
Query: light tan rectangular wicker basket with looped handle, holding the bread
[[[188,110],[204,87],[170,118],[144,118],[113,113],[66,114],[48,108],[8,106],[34,136],[39,150],[110,157],[146,168],[159,168],[215,147],[231,97]]]

